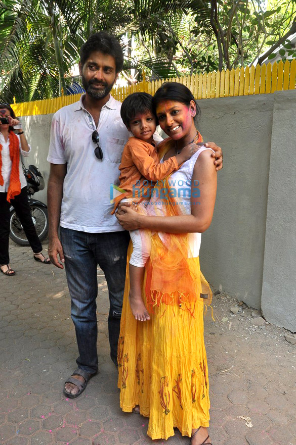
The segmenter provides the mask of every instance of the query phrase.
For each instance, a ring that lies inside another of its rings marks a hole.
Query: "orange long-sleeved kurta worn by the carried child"
[[[136,203],[149,201],[150,190],[155,182],[166,178],[178,168],[175,156],[160,164],[155,144],[131,137],[124,145],[119,165],[119,187],[124,193],[114,199],[112,213],[124,198],[133,198]]]

